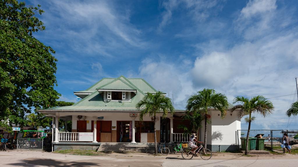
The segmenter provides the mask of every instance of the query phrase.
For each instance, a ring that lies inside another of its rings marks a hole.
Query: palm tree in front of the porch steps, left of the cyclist
[[[162,117],[166,118],[168,112],[174,114],[174,107],[172,105],[171,99],[169,97],[165,97],[164,94],[160,91],[155,94],[147,93],[145,97],[139,103],[136,104],[136,108],[141,110],[139,118],[140,121],[143,121],[143,116],[149,114],[149,116],[153,117],[154,122],[154,146],[155,146],[155,155],[157,155],[157,143],[156,143],[156,113],[163,112]]]

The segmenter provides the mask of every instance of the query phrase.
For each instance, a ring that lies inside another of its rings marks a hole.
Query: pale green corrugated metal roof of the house
[[[136,90],[138,93],[130,101],[104,101],[97,89]],[[123,75],[118,78],[103,78],[88,89],[75,92],[91,94],[74,105],[48,108],[45,110],[138,111],[136,104],[143,99],[147,92],[155,93],[157,91],[142,78],[125,78]],[[176,109],[175,111],[183,110]]]

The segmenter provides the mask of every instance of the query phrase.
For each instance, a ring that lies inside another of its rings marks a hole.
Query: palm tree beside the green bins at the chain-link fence
[[[250,124],[255,119],[254,116],[252,117],[252,113],[261,114],[265,118],[274,111],[274,106],[271,101],[267,100],[264,96],[252,97],[250,100],[248,98],[238,96],[234,99],[233,104],[235,103],[241,104],[235,105],[232,108],[231,113],[233,113],[233,111],[235,111],[236,109],[240,109],[238,111],[239,118],[242,118],[245,115],[249,115],[249,117],[245,118],[246,122],[248,122],[248,131],[245,146],[245,155],[247,155]]]

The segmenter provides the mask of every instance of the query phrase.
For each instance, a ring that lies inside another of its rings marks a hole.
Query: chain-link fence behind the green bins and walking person
[[[246,138],[247,131],[248,130],[237,130],[238,149],[242,149],[241,138]],[[298,149],[298,139],[294,139],[294,136],[298,134],[298,130],[250,130],[249,137],[253,138],[257,137],[258,135],[262,135],[262,138],[265,139],[264,150],[277,153],[285,153],[285,151],[287,150],[285,150],[282,146],[284,133],[288,134],[292,149]]]

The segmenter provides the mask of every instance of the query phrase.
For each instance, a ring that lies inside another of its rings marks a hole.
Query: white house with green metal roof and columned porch
[[[154,128],[150,116],[139,120],[136,104],[146,93],[157,92],[142,78],[103,78],[86,90],[74,92],[82,100],[71,106],[54,107],[39,110],[55,118],[55,149],[96,149],[102,143],[153,143]],[[164,94],[166,95],[166,94]],[[232,105],[231,105],[232,107]],[[227,114],[222,120],[219,111],[209,109],[211,124],[207,127],[207,146],[212,151],[236,149],[235,131],[240,130],[238,113]],[[176,109],[162,119],[158,114],[156,121],[157,142],[187,142],[178,125],[189,125],[181,116],[185,111]],[[71,120],[72,132],[59,132],[58,119]],[[198,134],[204,141],[204,125]],[[89,147],[88,147],[89,146]]]

